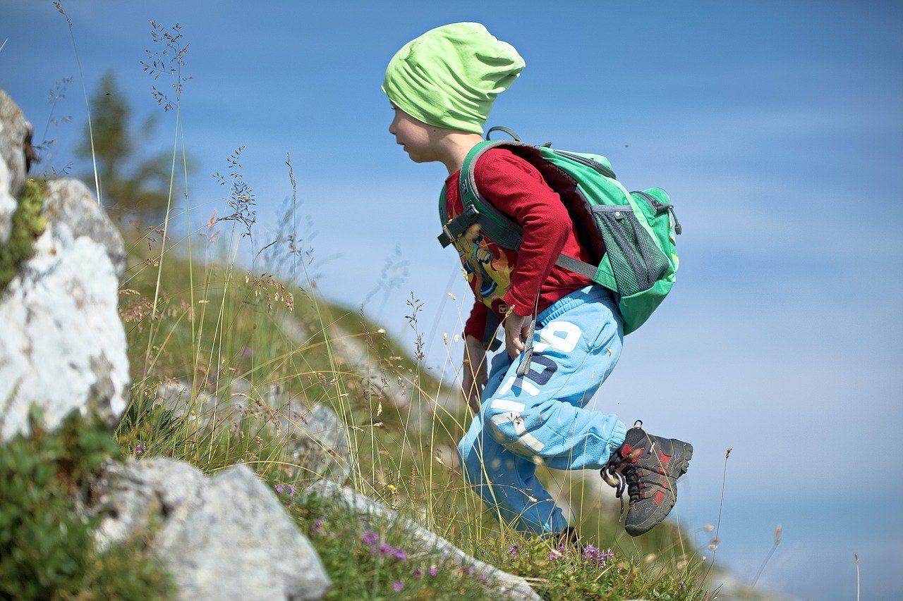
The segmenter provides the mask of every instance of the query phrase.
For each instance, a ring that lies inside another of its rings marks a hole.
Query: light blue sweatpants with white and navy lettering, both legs
[[[468,483],[493,513],[526,532],[562,532],[561,509],[535,476],[601,469],[624,442],[616,415],[584,409],[621,353],[623,326],[609,291],[592,285],[536,317],[529,371],[504,350],[492,359],[479,415],[458,444]]]

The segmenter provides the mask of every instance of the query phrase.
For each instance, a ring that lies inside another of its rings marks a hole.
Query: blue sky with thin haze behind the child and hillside
[[[694,443],[679,519],[714,523],[733,448],[717,560],[788,595],[903,596],[903,7],[860,2],[64,2],[90,90],[116,73],[137,116],[174,114],[142,72],[150,20],[182,24],[182,95],[194,223],[226,210],[210,176],[239,146],[260,237],[292,194],[330,298],[414,339],[427,364],[460,331],[467,289],[435,242],[441,165],[415,165],[386,132],[379,89],[404,42],[479,21],[514,44],[526,69],[490,125],[526,141],[606,154],[628,188],[660,186],[684,234],[675,291],[594,402],[653,433]],[[0,0],[0,87],[58,145],[81,135],[82,80],[51,2]],[[50,125],[48,91],[75,77]],[[165,83],[163,83],[165,86]],[[310,224],[308,226],[307,224]],[[386,278],[391,288],[380,288]],[[446,292],[452,291],[457,303]],[[466,301],[465,301],[466,300]],[[697,541],[709,541],[702,534]]]

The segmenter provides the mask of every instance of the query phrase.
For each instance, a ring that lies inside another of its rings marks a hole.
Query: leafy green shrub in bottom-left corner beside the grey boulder
[[[116,441],[98,420],[73,412],[55,432],[40,419],[31,436],[0,448],[0,598],[161,598],[172,590],[146,541],[100,551],[89,478]]]

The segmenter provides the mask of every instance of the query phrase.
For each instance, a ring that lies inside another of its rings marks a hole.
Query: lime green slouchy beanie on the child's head
[[[452,23],[397,51],[386,68],[383,91],[427,125],[482,134],[492,103],[524,66],[514,46],[483,25]]]

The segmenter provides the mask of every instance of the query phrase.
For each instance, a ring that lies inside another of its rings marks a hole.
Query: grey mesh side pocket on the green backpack
[[[621,296],[646,291],[668,269],[668,259],[639,225],[629,205],[597,205],[592,217],[599,227],[611,271]]]

